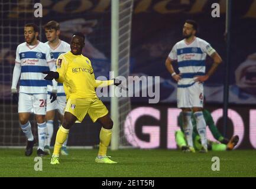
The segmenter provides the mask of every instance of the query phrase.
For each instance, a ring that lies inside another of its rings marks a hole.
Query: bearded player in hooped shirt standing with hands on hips
[[[183,26],[184,40],[174,45],[166,59],[166,68],[171,76],[178,83],[177,85],[177,107],[182,109],[183,130],[186,136],[188,148],[195,152],[193,148],[193,125],[191,121],[192,112],[196,118],[197,132],[199,133],[202,149],[200,152],[207,152],[206,123],[203,118],[203,82],[209,79],[222,62],[219,54],[211,45],[196,37],[197,23],[187,20]],[[214,63],[206,73],[206,56],[213,58]],[[179,74],[173,69],[173,62],[177,61]]]

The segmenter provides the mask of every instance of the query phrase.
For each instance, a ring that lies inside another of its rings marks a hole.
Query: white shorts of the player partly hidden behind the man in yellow
[[[57,96],[57,99],[51,102],[50,94],[47,94],[47,112],[57,109],[61,115],[64,115],[65,107],[66,96]]]

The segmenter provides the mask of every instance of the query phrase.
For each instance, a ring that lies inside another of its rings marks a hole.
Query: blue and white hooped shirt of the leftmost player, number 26
[[[21,64],[20,93],[46,94],[48,81],[42,71],[50,71],[48,63],[54,63],[48,45],[40,41],[33,47],[18,45],[15,62]]]

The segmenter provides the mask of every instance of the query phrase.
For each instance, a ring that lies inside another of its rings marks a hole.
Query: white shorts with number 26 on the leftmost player
[[[46,115],[47,94],[19,94],[18,113]]]

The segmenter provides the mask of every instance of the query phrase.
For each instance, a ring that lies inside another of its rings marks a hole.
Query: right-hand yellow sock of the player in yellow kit
[[[99,153],[98,155],[105,156],[106,150],[108,149],[112,135],[112,129],[101,128],[99,133]]]

